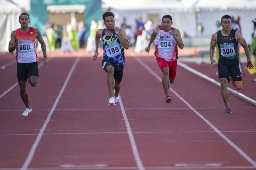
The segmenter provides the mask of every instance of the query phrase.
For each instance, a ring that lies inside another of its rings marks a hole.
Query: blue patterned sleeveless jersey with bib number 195
[[[119,66],[125,63],[125,51],[116,33],[111,36],[105,34],[106,29],[102,29],[103,58],[102,61],[110,61],[113,65]]]

